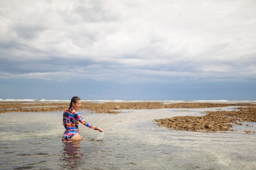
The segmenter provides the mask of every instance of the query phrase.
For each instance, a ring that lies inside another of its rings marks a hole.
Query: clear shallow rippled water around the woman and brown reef
[[[233,110],[235,107],[222,107]],[[204,115],[220,108],[122,110],[97,114],[81,110],[99,132],[79,125],[84,140],[63,143],[62,112],[0,114],[0,169],[48,170],[238,170],[256,169],[256,123],[236,132],[191,132],[156,126],[153,119]]]

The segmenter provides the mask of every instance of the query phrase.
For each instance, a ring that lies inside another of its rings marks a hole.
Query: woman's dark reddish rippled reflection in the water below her
[[[68,169],[76,169],[81,165],[83,154],[80,152],[80,142],[63,142],[63,167]]]

